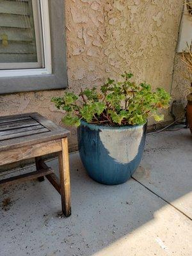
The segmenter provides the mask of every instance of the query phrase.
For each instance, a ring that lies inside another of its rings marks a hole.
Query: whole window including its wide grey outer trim
[[[0,93],[67,87],[63,0],[0,1]]]

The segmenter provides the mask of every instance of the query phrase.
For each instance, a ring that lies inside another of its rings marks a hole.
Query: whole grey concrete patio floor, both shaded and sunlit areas
[[[191,149],[189,129],[148,134],[140,167],[118,186],[93,181],[70,154],[69,218],[47,180],[1,189],[11,204],[0,209],[0,255],[191,256]]]

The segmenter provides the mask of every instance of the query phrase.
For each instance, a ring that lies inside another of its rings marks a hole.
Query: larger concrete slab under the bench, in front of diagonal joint
[[[70,155],[72,216],[61,218],[60,195],[47,180],[1,191],[1,256],[191,256],[191,221],[131,179],[104,186]],[[49,165],[57,169],[56,161]],[[33,168],[31,168],[32,170]]]

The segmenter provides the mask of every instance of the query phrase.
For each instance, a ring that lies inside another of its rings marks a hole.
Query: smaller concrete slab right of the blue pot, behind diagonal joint
[[[192,218],[192,136],[189,129],[148,134],[133,177]]]

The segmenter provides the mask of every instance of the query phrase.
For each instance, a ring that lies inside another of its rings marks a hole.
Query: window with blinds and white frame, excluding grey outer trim
[[[42,27],[42,24],[48,26]],[[46,41],[43,42],[45,37]],[[0,39],[1,77],[51,73],[51,68],[47,67],[49,64],[44,60],[45,54],[51,56],[49,9],[46,0],[1,1]],[[45,49],[48,51],[45,52]],[[30,68],[42,69],[22,70]],[[10,71],[12,69],[18,72]]]

